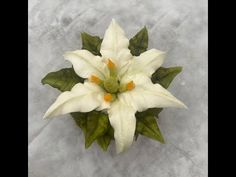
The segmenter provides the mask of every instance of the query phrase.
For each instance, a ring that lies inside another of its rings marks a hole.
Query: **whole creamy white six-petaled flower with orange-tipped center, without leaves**
[[[86,81],[63,92],[44,118],[71,112],[107,111],[119,153],[133,142],[136,111],[186,107],[161,85],[151,82],[151,75],[162,65],[165,53],[151,49],[132,56],[128,45],[124,31],[112,20],[101,44],[102,57],[87,50],[66,52],[65,59]]]

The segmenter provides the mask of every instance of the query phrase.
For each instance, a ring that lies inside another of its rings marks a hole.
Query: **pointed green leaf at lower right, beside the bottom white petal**
[[[157,120],[154,116],[137,118],[136,131],[141,135],[160,141],[161,143],[165,143],[158,127]]]

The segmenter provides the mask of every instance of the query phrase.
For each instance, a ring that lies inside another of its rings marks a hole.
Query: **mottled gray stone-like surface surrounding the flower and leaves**
[[[206,177],[207,1],[206,0],[29,0],[29,176],[30,177]],[[69,115],[42,116],[59,91],[42,86],[50,71],[70,66],[62,54],[81,48],[80,32],[103,36],[115,18],[132,37],[144,25],[149,48],[168,51],[164,66],[183,66],[169,90],[189,107],[160,114],[161,145],[139,137],[116,155],[84,138]]]

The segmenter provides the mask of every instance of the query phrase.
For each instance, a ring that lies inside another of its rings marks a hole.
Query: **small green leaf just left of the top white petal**
[[[88,33],[81,33],[82,38],[82,49],[86,49],[93,53],[94,55],[100,55],[100,47],[102,39],[98,36],[91,36]]]

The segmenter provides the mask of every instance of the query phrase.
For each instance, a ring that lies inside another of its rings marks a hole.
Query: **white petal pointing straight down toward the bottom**
[[[108,110],[109,120],[114,128],[117,153],[126,150],[133,142],[136,127],[135,112],[136,110],[119,100],[112,103]]]

